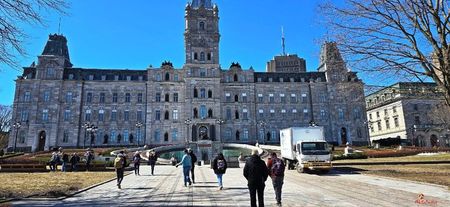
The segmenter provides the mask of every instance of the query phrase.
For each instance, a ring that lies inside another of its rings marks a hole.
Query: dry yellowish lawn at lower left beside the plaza
[[[115,172],[0,173],[0,198],[59,197],[109,180]]]

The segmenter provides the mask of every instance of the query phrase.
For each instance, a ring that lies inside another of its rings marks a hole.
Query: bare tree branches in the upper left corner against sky
[[[45,26],[44,14],[65,14],[66,0],[0,0],[0,63],[17,66],[17,56],[26,55],[27,38],[22,25]]]

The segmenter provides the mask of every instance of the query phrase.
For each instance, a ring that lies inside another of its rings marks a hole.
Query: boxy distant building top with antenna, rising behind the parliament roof
[[[275,56],[267,62],[267,72],[278,73],[304,73],[306,72],[306,61],[297,55]]]

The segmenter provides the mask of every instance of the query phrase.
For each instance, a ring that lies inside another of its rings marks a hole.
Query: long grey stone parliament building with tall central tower
[[[363,82],[334,42],[316,72],[297,55],[276,56],[267,72],[219,64],[219,9],[210,0],[185,8],[182,68],[74,67],[67,39],[50,35],[37,64],[16,80],[9,147],[160,146],[209,140],[278,144],[279,130],[324,126],[328,142],[367,145]],[[95,126],[95,130],[91,126]]]

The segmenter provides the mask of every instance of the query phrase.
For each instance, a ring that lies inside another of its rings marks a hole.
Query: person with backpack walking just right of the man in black
[[[267,160],[269,175],[272,179],[273,189],[275,190],[275,199],[277,205],[281,206],[281,188],[283,187],[285,165],[283,160],[277,157],[277,153],[273,152],[269,160]]]

